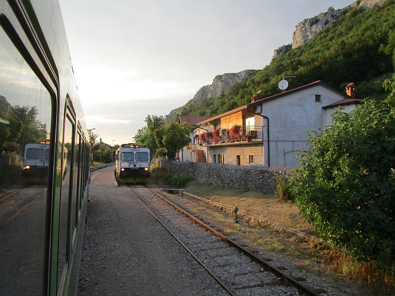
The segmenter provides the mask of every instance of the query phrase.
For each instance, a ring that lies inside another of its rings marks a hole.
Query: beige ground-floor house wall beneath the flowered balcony
[[[251,143],[251,142],[250,142]],[[236,155],[241,155],[241,165],[263,166],[265,164],[265,149],[262,142],[257,144],[233,144],[209,146],[210,162],[213,162],[213,154],[224,154],[224,163],[236,165]],[[247,162],[248,155],[254,155],[254,163]]]

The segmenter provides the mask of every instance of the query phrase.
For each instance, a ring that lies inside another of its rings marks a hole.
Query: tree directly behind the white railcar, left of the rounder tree
[[[147,148],[149,148],[151,155],[155,155],[158,149],[154,132],[163,124],[164,119],[165,118],[162,115],[158,116],[148,114],[144,120],[147,123],[147,126],[139,129],[136,135],[133,137],[136,143],[145,145]]]

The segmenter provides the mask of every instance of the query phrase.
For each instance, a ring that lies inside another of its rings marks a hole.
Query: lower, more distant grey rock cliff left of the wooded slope
[[[229,86],[239,82],[241,79],[248,77],[251,70],[244,70],[238,73],[225,73],[214,77],[213,82],[208,85],[200,87],[195,96],[188,101],[187,105],[194,105],[199,103],[204,98],[215,98],[225,91]],[[170,111],[167,116],[168,120],[172,121],[177,119],[178,113],[182,107]]]

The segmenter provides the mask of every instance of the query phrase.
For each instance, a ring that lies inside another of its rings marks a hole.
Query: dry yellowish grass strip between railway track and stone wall
[[[160,172],[159,179],[163,177],[161,174],[165,175],[163,171],[156,170],[156,172]],[[316,234],[314,227],[307,223],[299,213],[297,204],[292,200],[282,201],[275,193],[264,194],[252,190],[227,189],[201,184],[197,181],[188,182],[183,188],[184,191],[197,196],[221,204],[237,206],[240,210],[256,214],[276,224],[311,235]],[[258,250],[281,254],[292,259],[303,269],[310,268],[319,274],[327,272],[340,276],[339,281],[341,278],[348,278],[365,287],[366,295],[395,295],[395,269],[383,269],[372,262],[358,262],[349,255],[239,214],[237,215],[239,223],[235,223],[234,213],[189,197],[184,202],[206,222],[217,224],[226,235],[237,236]]]

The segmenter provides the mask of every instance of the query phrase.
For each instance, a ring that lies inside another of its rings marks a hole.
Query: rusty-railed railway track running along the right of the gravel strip
[[[144,186],[129,189],[230,295],[317,296],[326,292],[311,290],[300,283],[306,279],[285,274],[286,267],[259,258],[257,251],[247,250],[158,192]]]

